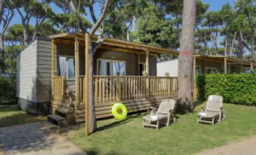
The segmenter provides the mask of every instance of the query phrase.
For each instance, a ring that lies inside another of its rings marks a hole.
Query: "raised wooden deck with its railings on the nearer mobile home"
[[[85,121],[83,92],[85,78],[79,76],[80,101],[69,102],[65,99],[65,79],[53,78],[53,97],[51,113],[57,108],[69,108],[75,105],[76,123]],[[94,76],[94,102],[96,117],[111,117],[112,105],[121,102],[128,108],[128,113],[144,111],[157,106],[162,99],[177,98],[177,78],[143,76]]]

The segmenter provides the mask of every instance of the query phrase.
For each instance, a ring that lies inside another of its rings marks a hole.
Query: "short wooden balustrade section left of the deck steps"
[[[64,76],[54,76],[51,78],[53,84],[52,99],[54,101],[64,101]]]

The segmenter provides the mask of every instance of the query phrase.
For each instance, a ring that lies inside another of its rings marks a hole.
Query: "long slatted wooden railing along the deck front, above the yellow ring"
[[[177,78],[94,76],[94,102],[116,102],[176,93]]]

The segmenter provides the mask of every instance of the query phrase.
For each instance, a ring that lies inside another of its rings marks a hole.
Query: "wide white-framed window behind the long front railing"
[[[98,75],[125,75],[125,62],[97,59]]]

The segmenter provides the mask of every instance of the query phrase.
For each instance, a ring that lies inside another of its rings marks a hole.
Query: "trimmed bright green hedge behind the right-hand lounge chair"
[[[199,99],[210,95],[223,96],[224,102],[256,105],[256,78],[254,74],[198,75],[196,85]]]

